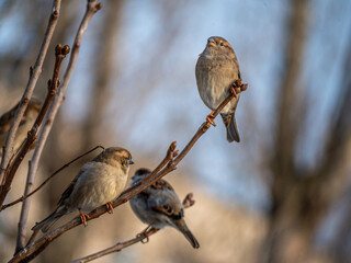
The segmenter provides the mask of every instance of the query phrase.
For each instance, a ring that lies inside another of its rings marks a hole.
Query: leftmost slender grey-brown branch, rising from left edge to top
[[[50,18],[48,21],[48,25],[46,27],[46,32],[44,35],[44,39],[43,39],[38,56],[36,58],[34,67],[31,67],[29,82],[27,82],[26,88],[24,90],[24,93],[22,95],[18,111],[13,117],[12,125],[11,125],[11,128],[10,128],[8,137],[7,137],[7,141],[3,147],[3,155],[2,155],[1,165],[0,165],[0,181],[2,181],[1,179],[3,179],[5,176],[5,171],[8,169],[9,162],[10,162],[10,157],[13,153],[13,141],[15,138],[15,134],[16,134],[18,128],[20,126],[23,114],[27,107],[27,104],[30,102],[30,99],[32,96],[34,88],[36,85],[37,79],[43,71],[44,59],[46,56],[48,45],[52,41],[56,24],[57,24],[57,19],[59,15],[60,5],[61,5],[61,0],[54,0],[52,14],[50,14]],[[2,185],[0,186],[0,192],[2,192]],[[1,204],[2,204],[2,202],[1,202]]]

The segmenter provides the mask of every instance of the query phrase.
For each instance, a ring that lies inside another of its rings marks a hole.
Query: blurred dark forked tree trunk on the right
[[[339,194],[344,190],[350,157],[351,83],[344,78],[318,165],[307,170],[296,162],[297,141],[309,110],[307,87],[301,84],[309,2],[291,0],[292,13],[285,32],[284,72],[278,92],[276,124],[269,170],[272,207],[263,245],[264,262],[308,262],[314,258],[314,237]],[[347,62],[349,64],[349,62]],[[350,69],[350,65],[346,65]],[[349,73],[344,73],[346,77]],[[321,87],[321,89],[325,87]],[[337,89],[336,89],[337,90]],[[326,119],[327,121],[327,119]],[[262,262],[262,258],[258,259]]]

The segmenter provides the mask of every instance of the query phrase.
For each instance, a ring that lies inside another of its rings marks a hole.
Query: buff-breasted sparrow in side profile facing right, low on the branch
[[[124,190],[129,164],[133,164],[131,153],[120,147],[111,147],[101,152],[92,161],[87,162],[75,180],[61,195],[57,208],[32,230],[42,229],[46,232],[61,216],[79,210],[81,221],[87,226],[90,213],[105,204],[112,213],[112,203]]]

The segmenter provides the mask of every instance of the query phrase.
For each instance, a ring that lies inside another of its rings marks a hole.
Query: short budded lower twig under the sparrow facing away
[[[189,193],[184,201],[183,201],[183,205],[184,205],[184,208],[189,208],[191,206],[193,206],[195,204],[195,201],[192,199],[193,197],[193,194],[192,193]],[[107,255],[107,254],[111,254],[111,253],[114,253],[114,252],[120,252],[121,250],[127,248],[127,247],[131,247],[132,244],[135,244],[135,243],[138,243],[138,242],[143,242],[143,240],[146,238],[148,242],[149,240],[149,237],[152,236],[154,233],[158,232],[159,229],[156,229],[156,228],[150,228],[149,230],[147,230],[146,232],[143,232],[141,235],[137,235],[136,238],[134,239],[131,239],[131,240],[127,240],[127,241],[124,241],[124,242],[118,242],[116,243],[115,245],[112,245],[107,249],[104,249],[104,250],[101,250],[97,253],[93,253],[93,254],[90,254],[90,255],[87,255],[84,258],[80,258],[78,260],[75,260],[72,261],[71,263],[86,263],[86,262],[90,262],[90,261],[93,261],[93,260],[97,260],[99,258],[102,258],[103,255]]]

